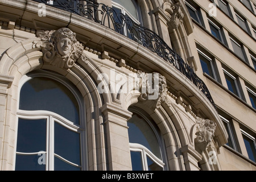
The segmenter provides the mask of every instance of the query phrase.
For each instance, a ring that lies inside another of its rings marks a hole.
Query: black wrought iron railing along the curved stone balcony
[[[193,82],[208,98],[215,107],[214,101],[210,96],[207,86],[204,84],[191,67],[173,51],[159,35],[135,23],[128,15],[115,11],[112,7],[97,3],[93,0],[72,1],[72,0],[33,0],[40,3],[46,3],[49,6],[68,11],[77,15],[84,16],[96,23],[111,28],[115,32],[127,36],[138,42],[142,46],[150,49],[158,56],[162,57],[168,63],[172,64],[177,70],[183,73]]]

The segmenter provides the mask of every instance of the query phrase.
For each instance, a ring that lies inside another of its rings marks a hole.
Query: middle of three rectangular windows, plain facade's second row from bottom
[[[237,78],[231,75],[228,71],[222,68],[224,71],[224,75],[226,78],[226,84],[228,85],[228,89],[230,92],[236,94],[238,97],[241,98],[240,90],[238,88]]]

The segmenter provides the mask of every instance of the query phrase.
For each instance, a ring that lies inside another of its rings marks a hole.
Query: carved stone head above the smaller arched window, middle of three
[[[139,101],[154,101],[152,107],[159,108],[167,97],[166,77],[156,72],[144,73],[142,71],[138,71],[138,76],[141,78]]]

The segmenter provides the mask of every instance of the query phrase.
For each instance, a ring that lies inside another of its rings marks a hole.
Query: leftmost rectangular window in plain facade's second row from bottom
[[[207,75],[214,78],[214,80],[217,80],[212,59],[199,49],[197,49],[197,51],[199,53],[199,59],[203,72],[207,73]]]

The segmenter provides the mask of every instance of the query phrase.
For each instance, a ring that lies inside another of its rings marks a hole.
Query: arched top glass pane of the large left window
[[[79,124],[79,105],[64,85],[46,77],[28,80],[20,90],[19,109],[47,110]]]

